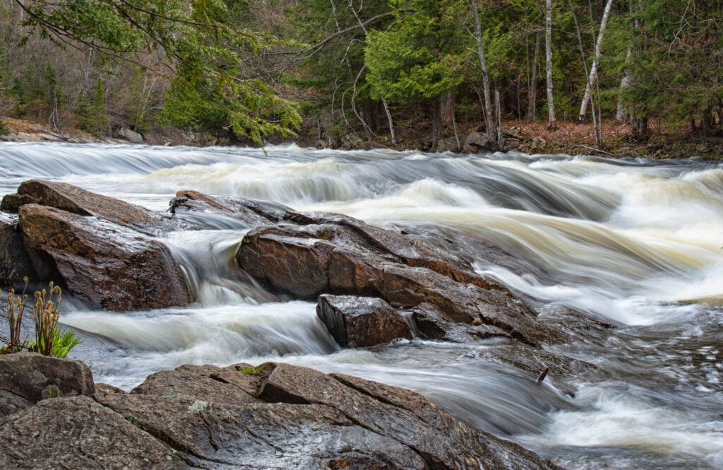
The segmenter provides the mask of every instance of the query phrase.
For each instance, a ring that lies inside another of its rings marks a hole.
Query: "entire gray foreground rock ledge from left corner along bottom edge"
[[[181,366],[0,419],[2,469],[555,470],[418,393],[288,364]]]

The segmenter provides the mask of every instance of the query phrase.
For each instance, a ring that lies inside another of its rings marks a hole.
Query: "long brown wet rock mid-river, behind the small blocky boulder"
[[[379,297],[393,306],[434,305],[447,322],[482,322],[531,345],[564,335],[453,256],[403,235],[335,214],[294,214],[248,232],[236,260],[268,288],[297,298],[322,293]],[[496,330],[495,330],[496,331]]]

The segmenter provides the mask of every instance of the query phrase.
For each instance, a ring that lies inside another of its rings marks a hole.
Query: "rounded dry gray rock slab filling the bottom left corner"
[[[174,450],[90,397],[44,400],[0,419],[0,468],[180,470]]]

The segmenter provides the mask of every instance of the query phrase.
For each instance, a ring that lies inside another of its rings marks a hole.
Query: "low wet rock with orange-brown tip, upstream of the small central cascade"
[[[189,212],[212,212],[240,220],[249,227],[259,227],[280,222],[290,211],[276,203],[260,203],[244,198],[208,196],[198,191],[183,190],[171,200],[173,214]]]

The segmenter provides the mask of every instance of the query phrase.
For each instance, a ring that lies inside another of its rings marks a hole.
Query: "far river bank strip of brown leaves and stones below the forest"
[[[115,138],[98,138],[90,133],[76,129],[58,133],[48,125],[42,125],[23,119],[3,118],[9,133],[0,135],[5,142],[67,142],[67,143],[135,143],[157,146],[228,146],[228,139],[217,139],[202,133],[188,133],[178,129],[164,127],[154,129],[143,135],[127,128],[115,132]],[[542,123],[508,120],[503,122],[505,129],[505,151],[521,151],[528,154],[568,154],[597,155],[615,158],[649,158],[649,159],[685,159],[698,157],[701,159],[720,159],[723,157],[723,139],[691,137],[686,130],[676,127],[660,128],[649,138],[633,139],[630,137],[628,125],[617,125],[604,122],[604,148],[596,148],[593,130],[590,125],[577,125],[570,122],[558,122],[555,130],[547,129]],[[422,131],[422,132],[420,132]],[[458,153],[486,153],[484,143],[484,126],[460,124],[458,137],[453,137],[453,130],[448,129],[449,136],[440,141],[440,151]],[[390,148],[393,150],[429,151],[431,142],[424,126],[401,128],[398,143],[392,145],[388,138],[364,140],[359,135],[348,134],[343,138],[319,138],[316,130],[305,125],[299,135],[291,140],[271,138],[271,145],[296,142],[307,148],[339,148],[346,150],[370,150],[373,148]],[[238,143],[236,143],[238,145]],[[255,146],[253,143],[241,145]]]

